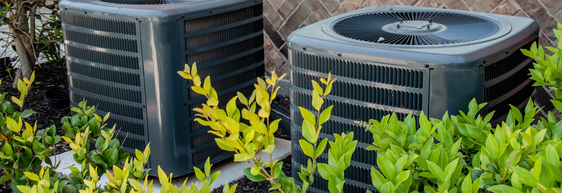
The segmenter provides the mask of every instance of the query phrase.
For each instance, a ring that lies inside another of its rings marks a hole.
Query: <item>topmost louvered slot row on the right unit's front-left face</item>
[[[291,65],[306,70],[332,73],[350,79],[377,82],[382,84],[423,88],[423,72],[404,68],[368,65],[353,61],[327,58],[293,51]]]

